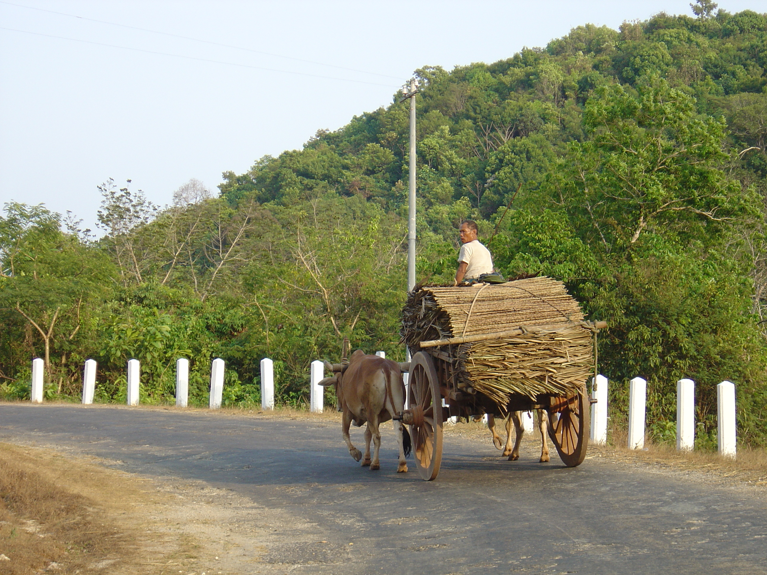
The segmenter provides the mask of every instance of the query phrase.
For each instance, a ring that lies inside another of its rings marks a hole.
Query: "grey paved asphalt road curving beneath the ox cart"
[[[0,441],[207,481],[316,524],[328,544],[354,541],[346,563],[295,573],[767,573],[763,497],[609,462],[512,463],[489,442],[446,437],[426,483],[412,460],[394,472],[389,425],[382,469],[368,471],[334,422],[97,406],[0,405]],[[284,550],[288,563],[311,552]]]

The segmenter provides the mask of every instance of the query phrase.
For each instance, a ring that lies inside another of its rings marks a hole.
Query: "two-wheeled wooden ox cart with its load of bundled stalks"
[[[604,322],[551,278],[466,287],[416,286],[400,334],[411,354],[407,409],[421,478],[439,473],[443,424],[512,411],[545,410],[548,436],[568,467],[580,465],[589,439],[587,384],[596,370]],[[398,418],[399,419],[399,418]]]

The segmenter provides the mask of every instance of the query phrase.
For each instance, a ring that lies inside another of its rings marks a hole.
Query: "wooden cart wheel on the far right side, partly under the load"
[[[577,467],[586,458],[589,416],[585,389],[568,397],[552,397],[548,408],[548,436],[568,467]]]

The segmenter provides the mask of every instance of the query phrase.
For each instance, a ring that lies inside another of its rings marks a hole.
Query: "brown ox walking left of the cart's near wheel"
[[[325,367],[334,371],[339,366],[326,362]],[[370,469],[380,469],[378,452],[381,435],[378,426],[393,419],[393,416],[405,409],[405,386],[400,364],[383,357],[365,355],[363,350],[357,350],[351,354],[348,365],[337,370],[334,376],[322,380],[320,385],[336,386],[338,403],[343,412],[341,434],[351,456],[355,461],[362,459],[363,466],[370,465]],[[357,427],[367,422],[364,457],[360,450],[351,444],[349,426],[352,422]],[[410,434],[404,429],[402,422],[395,420],[393,424],[400,447],[397,473],[404,473],[407,471],[405,457],[410,455]],[[372,459],[370,439],[375,445]]]

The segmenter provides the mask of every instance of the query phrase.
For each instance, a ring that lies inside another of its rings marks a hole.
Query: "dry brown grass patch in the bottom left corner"
[[[90,498],[32,470],[31,457],[0,446],[0,572],[96,572],[127,550],[124,534]]]

